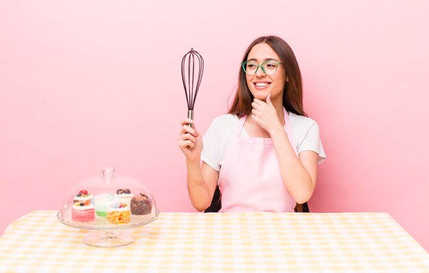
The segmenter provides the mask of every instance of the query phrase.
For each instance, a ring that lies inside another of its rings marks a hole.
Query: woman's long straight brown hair
[[[247,47],[243,56],[243,62],[247,61],[247,56],[249,56],[249,52],[254,45],[260,43],[269,45],[275,54],[279,56],[280,62],[284,64],[284,68],[286,69],[289,82],[286,82],[283,88],[282,101],[284,108],[297,115],[307,116],[304,112],[304,106],[302,105],[301,71],[299,71],[298,62],[291,47],[289,47],[282,38],[278,36],[261,36],[256,38],[256,40]],[[228,114],[238,115],[238,117],[248,115],[252,112],[253,100],[254,96],[250,93],[249,86],[247,86],[246,74],[240,67],[240,72],[238,73],[238,88]]]

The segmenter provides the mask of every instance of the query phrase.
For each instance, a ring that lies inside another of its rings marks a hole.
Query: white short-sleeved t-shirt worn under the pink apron
[[[221,115],[212,121],[206,134],[204,134],[201,160],[217,171],[221,169],[226,150],[237,130],[239,121],[236,115]],[[319,137],[319,126],[316,121],[309,117],[296,115],[293,112],[289,112],[289,121],[298,154],[304,151],[317,152],[319,154],[317,163],[320,164],[325,161],[326,154]],[[244,128],[241,137],[249,137]]]

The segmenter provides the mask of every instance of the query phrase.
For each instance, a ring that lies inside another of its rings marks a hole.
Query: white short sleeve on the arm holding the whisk
[[[203,137],[201,160],[213,169],[221,169],[221,134],[215,121],[210,124]]]

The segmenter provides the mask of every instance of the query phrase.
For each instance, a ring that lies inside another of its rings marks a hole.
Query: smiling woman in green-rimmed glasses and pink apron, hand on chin
[[[228,115],[212,122],[204,141],[191,119],[182,121],[178,144],[191,202],[204,211],[219,185],[219,212],[293,212],[310,199],[317,164],[326,155],[317,123],[303,110],[291,47],[276,36],[257,38],[245,52],[238,81]]]

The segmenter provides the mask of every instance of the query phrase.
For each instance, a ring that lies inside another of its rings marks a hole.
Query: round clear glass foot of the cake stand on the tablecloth
[[[100,248],[114,248],[117,246],[126,246],[136,240],[136,237],[130,233],[121,231],[106,231],[106,233],[93,233],[85,237],[84,243],[89,246],[98,246]]]

